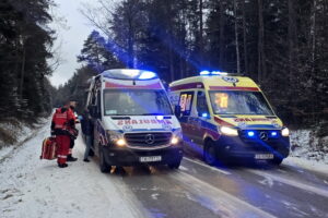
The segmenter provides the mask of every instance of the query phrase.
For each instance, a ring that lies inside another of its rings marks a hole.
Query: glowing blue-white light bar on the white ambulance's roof
[[[117,78],[117,80],[147,81],[147,80],[157,78],[156,73],[152,71],[137,70],[137,69],[107,70],[104,71],[102,74],[104,77]]]

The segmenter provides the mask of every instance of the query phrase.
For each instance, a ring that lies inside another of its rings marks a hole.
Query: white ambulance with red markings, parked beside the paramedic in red
[[[179,167],[180,124],[154,72],[103,72],[91,82],[86,107],[94,124],[92,150],[99,157],[102,172],[109,172],[112,166]]]

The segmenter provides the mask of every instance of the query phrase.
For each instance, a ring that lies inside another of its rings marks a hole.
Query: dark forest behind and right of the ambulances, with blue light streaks
[[[221,70],[260,84],[285,123],[327,125],[328,1],[96,2],[81,10],[95,31],[78,57],[83,66],[59,88],[57,102],[70,90],[84,104],[78,84],[86,72],[139,68],[169,83]]]

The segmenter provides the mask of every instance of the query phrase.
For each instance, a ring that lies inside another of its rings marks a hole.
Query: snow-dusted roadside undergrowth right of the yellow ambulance
[[[300,162],[325,162],[328,165],[328,136],[319,138],[314,130],[297,130],[291,132],[291,157]],[[304,159],[304,160],[301,160]],[[311,164],[312,165],[312,164]]]

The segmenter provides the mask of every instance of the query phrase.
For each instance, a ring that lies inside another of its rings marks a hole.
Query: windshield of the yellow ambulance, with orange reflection
[[[210,92],[210,98],[215,114],[273,116],[260,92]]]

